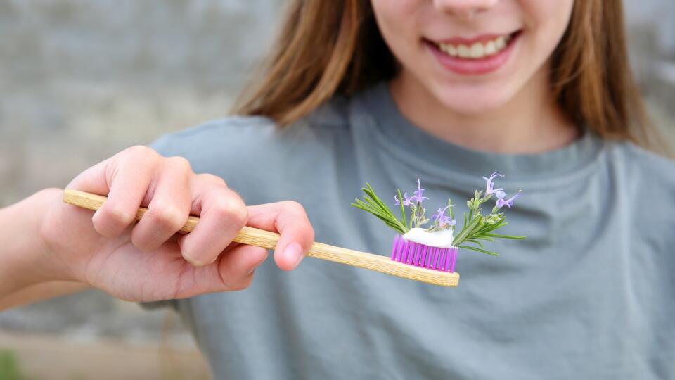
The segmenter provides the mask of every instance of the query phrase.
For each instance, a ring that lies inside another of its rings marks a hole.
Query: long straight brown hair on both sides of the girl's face
[[[334,94],[389,80],[397,61],[364,0],[295,0],[257,84],[236,112],[289,125]],[[629,67],[621,0],[577,0],[551,57],[551,84],[567,116],[605,139],[653,146]]]

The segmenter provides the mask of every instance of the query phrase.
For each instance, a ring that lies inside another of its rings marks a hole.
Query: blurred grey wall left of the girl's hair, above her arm
[[[0,205],[225,115],[276,1],[0,0]]]

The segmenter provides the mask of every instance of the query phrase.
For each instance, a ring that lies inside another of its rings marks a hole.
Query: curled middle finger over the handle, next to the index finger
[[[193,208],[200,210],[200,221],[190,234],[181,238],[181,252],[195,266],[208,265],[246,225],[248,210],[243,200],[224,184],[205,187],[201,194],[198,191]]]

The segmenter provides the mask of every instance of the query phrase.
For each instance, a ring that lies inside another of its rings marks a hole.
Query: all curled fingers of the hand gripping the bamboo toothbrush
[[[314,229],[299,203],[247,208],[221,178],[195,175],[184,158],[163,158],[144,146],[129,148],[91,167],[69,187],[108,195],[108,201],[93,217],[96,231],[107,237],[120,235],[134,222],[138,208],[147,204],[148,211],[131,232],[132,243],[141,251],[159,248],[179,231],[189,215],[199,215],[200,222],[193,232],[179,239],[181,255],[196,267],[218,260],[247,224],[281,234],[274,258],[283,270],[297,267],[314,242]],[[242,267],[255,267],[264,260],[262,251],[265,250],[232,248],[218,262],[219,272],[224,278],[238,278]],[[245,257],[246,252],[255,253]],[[255,260],[259,258],[262,259]],[[231,269],[223,266],[229,262]]]

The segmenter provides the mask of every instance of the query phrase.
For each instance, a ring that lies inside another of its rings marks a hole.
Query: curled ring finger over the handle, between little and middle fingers
[[[156,179],[148,211],[131,232],[131,241],[141,251],[153,251],[174,236],[187,222],[192,208],[192,169],[188,161],[170,157],[163,165],[167,169]]]

